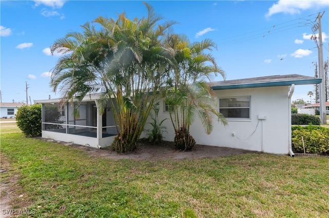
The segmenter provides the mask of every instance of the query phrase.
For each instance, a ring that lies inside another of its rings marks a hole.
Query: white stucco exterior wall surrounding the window
[[[213,131],[207,135],[196,117],[191,134],[197,144],[288,154],[288,90],[288,86],[216,90],[217,97],[251,96],[250,119],[227,120],[226,127],[215,119]],[[266,120],[259,120],[258,115],[265,115]],[[169,117],[161,107],[159,120]],[[174,131],[170,120],[166,120],[164,125],[167,127],[164,140],[173,141]]]

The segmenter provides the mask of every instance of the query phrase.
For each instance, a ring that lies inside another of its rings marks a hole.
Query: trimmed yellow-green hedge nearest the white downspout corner
[[[329,154],[329,129],[321,126],[293,126],[291,141],[296,152]]]

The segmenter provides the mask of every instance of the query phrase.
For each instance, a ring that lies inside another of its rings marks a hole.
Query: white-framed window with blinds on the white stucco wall
[[[220,112],[226,118],[250,118],[250,96],[220,98]]]

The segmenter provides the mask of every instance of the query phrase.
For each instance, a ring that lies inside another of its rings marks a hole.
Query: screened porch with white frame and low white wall
[[[42,137],[95,148],[111,145],[117,135],[111,103],[97,112],[97,95],[86,96],[74,116],[74,104],[60,107],[60,99],[39,100],[42,104]]]

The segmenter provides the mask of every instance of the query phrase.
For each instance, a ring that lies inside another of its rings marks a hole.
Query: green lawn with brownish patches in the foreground
[[[243,154],[201,160],[111,160],[25,138],[13,130],[1,133],[1,155],[2,162],[10,163],[10,169],[0,173],[2,182],[18,175],[13,209],[30,209],[33,217],[329,214],[328,157]]]

